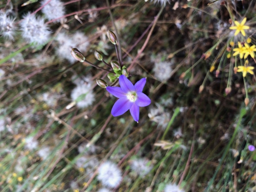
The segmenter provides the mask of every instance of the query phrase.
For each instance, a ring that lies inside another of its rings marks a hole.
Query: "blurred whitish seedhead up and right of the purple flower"
[[[172,63],[171,62],[157,62],[154,65],[153,71],[154,76],[159,81],[166,81],[171,77],[172,69]]]

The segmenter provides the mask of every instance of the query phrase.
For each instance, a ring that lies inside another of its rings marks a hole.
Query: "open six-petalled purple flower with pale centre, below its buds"
[[[146,78],[142,78],[135,85],[127,77],[120,75],[120,87],[107,87],[107,91],[119,98],[112,107],[111,114],[116,117],[123,115],[128,109],[132,118],[138,122],[140,107],[146,107],[151,103],[147,95],[142,93],[146,84]]]

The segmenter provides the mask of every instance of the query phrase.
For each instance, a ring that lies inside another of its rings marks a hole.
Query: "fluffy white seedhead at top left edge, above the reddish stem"
[[[41,5],[44,5],[48,0],[41,1]],[[42,12],[48,20],[57,19],[65,15],[64,3],[60,0],[51,0],[43,8]],[[60,22],[60,19],[55,22]]]

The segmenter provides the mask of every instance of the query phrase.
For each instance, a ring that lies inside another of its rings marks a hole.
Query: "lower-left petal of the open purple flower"
[[[112,107],[111,114],[116,117],[123,115],[128,109],[131,108],[133,102],[131,102],[127,97],[121,97],[118,99]]]

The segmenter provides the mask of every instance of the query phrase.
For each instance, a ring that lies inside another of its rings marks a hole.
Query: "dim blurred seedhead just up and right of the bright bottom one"
[[[144,178],[152,169],[150,161],[146,158],[131,160],[131,169]]]

